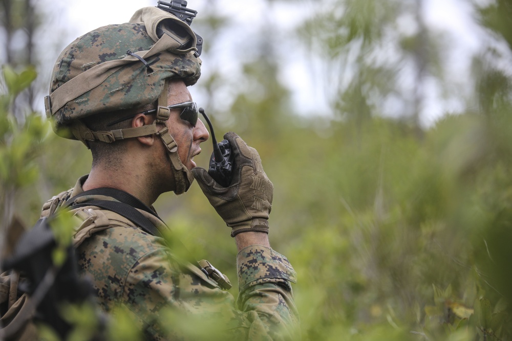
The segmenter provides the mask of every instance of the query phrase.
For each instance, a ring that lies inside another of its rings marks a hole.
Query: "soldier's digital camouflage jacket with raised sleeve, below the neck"
[[[74,189],[45,203],[42,215],[83,192]],[[108,199],[84,196],[80,200]],[[113,200],[112,198],[110,198]],[[79,267],[91,278],[102,309],[128,311],[144,339],[300,339],[291,283],[295,271],[286,257],[264,246],[237,256],[239,296],[222,290],[201,268],[183,260],[160,237],[126,218],[93,206],[72,211],[78,218],[74,245]],[[167,226],[144,211],[165,235]]]

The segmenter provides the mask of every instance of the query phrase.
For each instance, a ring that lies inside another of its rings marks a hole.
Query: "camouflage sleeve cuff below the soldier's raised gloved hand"
[[[240,291],[261,283],[296,283],[296,273],[288,259],[271,248],[251,245],[237,255]]]

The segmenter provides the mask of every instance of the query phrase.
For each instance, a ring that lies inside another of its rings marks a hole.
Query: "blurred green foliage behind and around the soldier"
[[[508,41],[512,30],[505,3],[481,13],[485,25]],[[395,19],[414,9],[404,2],[370,0],[329,6],[305,22],[300,34],[330,73],[344,68],[350,80],[329,83],[333,119],[301,117],[290,110],[289,92],[275,77],[281,55],[268,47],[242,67],[244,84],[214,74],[196,85],[211,103],[220,84],[236,89],[226,112],[215,112],[214,106],[208,113],[219,135],[237,131],[258,149],[273,181],[270,239],[298,273],[293,289],[303,338],[510,339],[510,77],[492,66],[475,73],[478,113],[446,115],[424,129],[403,117],[384,118],[383,100],[409,94],[395,82],[398,66],[411,58],[418,61],[421,49],[432,48],[424,55],[425,67],[443,80],[436,48],[442,43],[425,42],[419,34],[393,36],[398,57],[383,61],[376,56],[396,29]],[[217,32],[222,22],[214,17],[202,25]],[[270,44],[272,37],[265,37]],[[78,143],[47,137],[49,128],[39,115],[22,120],[9,113],[13,98],[33,77],[31,69],[15,73],[5,67],[9,94],[0,97],[2,189],[10,186],[23,199],[15,210],[28,223],[39,214],[31,202],[39,204],[39,197],[73,186],[91,161]],[[411,110],[408,115],[414,115]],[[195,158],[198,165],[207,165],[210,148],[207,142]],[[44,181],[35,186],[37,172]],[[25,192],[29,185],[35,190]],[[162,195],[156,208],[174,230],[173,238],[225,272],[236,295],[236,247],[200,189],[193,186],[179,197]],[[66,224],[55,225],[64,232],[62,245],[69,241]],[[61,256],[55,257],[59,262]],[[88,322],[92,312],[69,309],[74,321],[94,329]],[[111,339],[140,339],[131,328],[130,312],[115,316]],[[190,323],[173,311],[161,317]],[[191,332],[201,331],[189,326]]]

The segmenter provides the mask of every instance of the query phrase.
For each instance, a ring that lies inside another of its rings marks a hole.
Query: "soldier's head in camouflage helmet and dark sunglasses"
[[[157,8],[143,8],[130,22],[93,30],[62,51],[45,98],[47,117],[58,135],[91,149],[93,167],[115,164],[129,152],[128,140],[158,137],[174,191],[183,193],[193,181],[190,159],[208,138],[195,104],[187,103],[186,86],[197,82],[200,67],[189,26]],[[201,140],[197,147],[194,139]]]

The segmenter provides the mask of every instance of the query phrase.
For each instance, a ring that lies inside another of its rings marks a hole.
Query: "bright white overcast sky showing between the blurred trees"
[[[237,33],[250,32],[251,28],[254,28],[254,24],[263,20],[266,15],[273,15],[278,18],[283,30],[291,30],[301,21],[301,18],[311,14],[313,9],[311,4],[321,4],[321,2],[308,1],[276,2],[278,6],[274,6],[274,12],[268,13],[264,11],[267,2],[263,0],[251,0],[250,2],[216,1],[220,5],[219,8],[222,8],[233,19],[233,24],[239,27],[240,31],[237,31]],[[55,44],[60,51],[83,33],[100,26],[126,22],[137,9],[145,6],[155,6],[156,3],[156,0],[40,0],[39,4],[50,4],[52,11],[59,13],[52,24],[53,29],[46,34],[57,34],[58,39],[55,40]],[[200,15],[205,4],[206,0],[189,0],[188,8],[198,10]],[[477,51],[481,45],[481,36],[478,28],[471,20],[471,15],[471,6],[465,0],[425,0],[425,20],[427,24],[439,30],[446,30],[454,41],[453,53],[451,54],[451,58],[454,58],[454,60],[451,62],[455,68],[460,68],[460,72],[457,71],[459,74],[467,71],[464,68],[467,68],[470,62],[468,56]],[[56,29],[59,27],[63,29]],[[311,72],[311,60],[308,60],[306,53],[304,51],[295,52],[298,57],[293,58],[292,62],[288,63],[281,77],[292,90],[292,101],[296,110],[307,114],[320,108],[328,113],[329,106],[325,91],[322,89],[325,84],[320,84],[323,80],[315,76],[315,72]],[[55,60],[56,56],[51,57]],[[203,60],[203,74],[208,72],[208,60]],[[293,75],[302,76],[297,81],[293,78]],[[49,73],[41,76],[49,77]],[[194,93],[193,87],[190,92],[195,100],[200,102],[201,96]],[[446,110],[457,111],[463,109],[460,107],[460,103],[440,104],[435,89],[432,89],[427,97],[423,115],[423,122],[426,125],[432,124]]]

